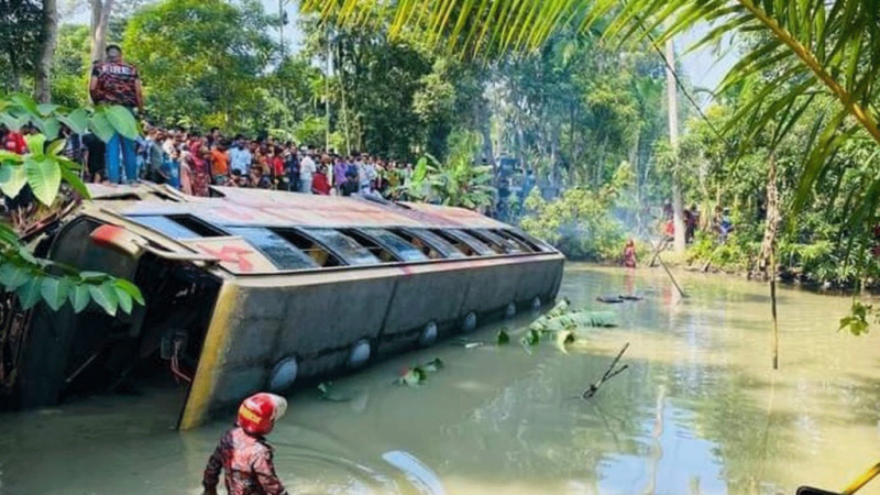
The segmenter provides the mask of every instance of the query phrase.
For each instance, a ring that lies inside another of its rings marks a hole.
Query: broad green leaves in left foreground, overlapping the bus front
[[[79,312],[95,301],[116,315],[120,309],[131,312],[134,302],[144,304],[130,282],[35,257],[32,245],[34,227],[88,197],[78,165],[62,154],[66,140],[59,135],[61,124],[80,133],[89,130],[105,141],[114,132],[134,138],[138,125],[131,113],[121,107],[70,111],[13,95],[0,99],[0,122],[14,131],[25,125],[40,130],[25,138],[25,154],[0,151],[0,191],[13,221],[0,223],[0,285],[16,294],[24,309],[42,300],[54,310],[69,304]]]

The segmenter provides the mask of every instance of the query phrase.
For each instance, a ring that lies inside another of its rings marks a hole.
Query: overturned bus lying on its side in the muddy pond
[[[0,306],[0,396],[57,404],[144,366],[187,387],[178,427],[428,346],[556,298],[563,256],[476,212],[365,198],[95,186],[36,254],[128,278],[145,305],[111,317]]]

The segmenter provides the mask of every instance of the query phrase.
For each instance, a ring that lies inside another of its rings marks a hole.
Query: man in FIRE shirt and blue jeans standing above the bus
[[[143,89],[138,68],[122,59],[122,48],[119,45],[107,45],[107,58],[97,61],[92,65],[89,94],[95,105],[119,105],[132,112],[134,108],[138,108],[140,114],[144,112]],[[129,183],[138,180],[134,141],[118,132],[114,132],[107,142],[107,178],[113,184],[120,183],[120,154],[125,165],[125,179]]]

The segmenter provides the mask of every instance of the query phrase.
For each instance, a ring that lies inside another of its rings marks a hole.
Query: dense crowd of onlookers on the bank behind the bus
[[[82,164],[82,178],[106,182],[105,143],[91,134],[74,136],[68,143],[72,157]],[[136,141],[134,153],[136,176],[121,176],[121,182],[145,179],[168,184],[194,196],[208,196],[209,186],[216,185],[316,195],[377,194],[392,198],[397,197],[398,186],[413,169],[410,164],[365,153],[342,156],[270,136],[228,138],[218,129],[200,134],[147,128],[145,135]]]

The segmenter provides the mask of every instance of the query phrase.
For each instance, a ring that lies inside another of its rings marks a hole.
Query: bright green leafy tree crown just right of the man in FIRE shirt
[[[131,16],[124,48],[165,123],[253,131],[277,53],[267,25],[258,1],[165,0]]]

